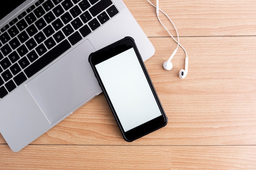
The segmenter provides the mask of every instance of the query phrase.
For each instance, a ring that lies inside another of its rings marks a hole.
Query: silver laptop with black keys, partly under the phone
[[[0,7],[0,132],[18,152],[101,93],[90,53],[126,36],[155,53],[121,0],[8,0]]]

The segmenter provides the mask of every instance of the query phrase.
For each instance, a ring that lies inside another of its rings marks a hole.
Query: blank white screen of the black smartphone
[[[95,67],[125,132],[162,115],[133,48]]]

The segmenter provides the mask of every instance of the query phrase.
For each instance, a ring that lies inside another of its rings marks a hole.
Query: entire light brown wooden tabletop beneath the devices
[[[160,0],[184,52],[146,0],[124,0],[155,46],[145,62],[168,124],[128,143],[99,95],[18,153],[0,136],[1,170],[255,170],[256,1]],[[160,16],[176,36],[171,24]]]

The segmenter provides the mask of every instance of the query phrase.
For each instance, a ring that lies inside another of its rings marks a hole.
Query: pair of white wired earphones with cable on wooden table
[[[175,38],[173,38],[173,35],[172,35],[172,34],[168,31],[168,29],[164,26],[164,29],[166,29],[166,31],[169,33],[169,35],[171,35],[171,38],[173,38],[173,40],[177,43],[177,47],[176,47],[176,49],[173,51],[173,53],[171,54],[171,56],[169,57],[169,59],[168,59],[166,62],[164,62],[163,67],[164,67],[164,69],[166,69],[166,70],[171,70],[171,69],[173,68],[173,64],[171,63],[171,60],[172,60],[173,56],[175,55],[175,53],[177,52],[177,50],[178,50],[178,48],[179,48],[179,46],[180,46],[180,47],[183,49],[183,51],[185,52],[185,54],[186,54],[186,57],[185,57],[185,70],[184,70],[184,69],[181,69],[180,72],[179,72],[179,77],[180,77],[181,79],[184,79],[184,78],[186,77],[186,75],[188,74],[188,65],[189,65],[189,58],[188,58],[188,55],[187,55],[186,50],[184,49],[184,47],[180,44],[180,38],[179,38],[178,31],[177,31],[177,29],[176,29],[176,26],[174,25],[174,23],[173,23],[173,21],[171,20],[171,18],[170,18],[166,13],[164,13],[164,11],[162,11],[161,9],[159,9],[159,2],[158,2],[158,0],[156,0],[156,1],[157,1],[157,2],[156,2],[156,6],[155,6],[153,3],[151,3],[151,2],[148,0],[148,2],[149,2],[153,7],[156,8],[157,18],[158,18],[159,22],[162,24],[162,26],[164,26],[164,24],[162,23],[162,21],[161,21],[160,18],[159,18],[159,11],[161,11],[161,12],[168,18],[168,20],[170,20],[170,22],[172,23],[173,27],[175,28],[175,31],[176,31],[176,34],[177,34],[177,39],[178,39],[178,40],[175,40]]]

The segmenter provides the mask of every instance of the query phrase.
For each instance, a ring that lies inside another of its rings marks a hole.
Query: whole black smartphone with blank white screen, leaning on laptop
[[[126,141],[167,124],[133,38],[125,37],[91,53],[89,62]]]

